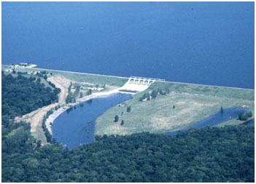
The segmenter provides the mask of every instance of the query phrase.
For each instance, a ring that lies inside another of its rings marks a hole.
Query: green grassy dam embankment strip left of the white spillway
[[[7,69],[7,65],[1,65],[2,68]],[[15,71],[47,71],[53,73],[53,76],[64,76],[67,79],[77,82],[88,82],[91,84],[107,84],[109,86],[122,87],[128,78],[115,77],[115,76],[102,76],[88,73],[72,73],[69,71],[52,71],[39,68],[15,68]]]

